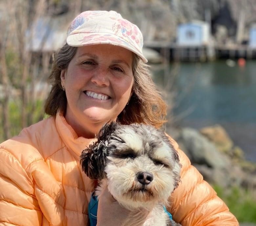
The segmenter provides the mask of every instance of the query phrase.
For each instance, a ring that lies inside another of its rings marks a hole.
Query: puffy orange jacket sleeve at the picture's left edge
[[[0,226],[42,225],[32,176],[17,157],[0,148]]]

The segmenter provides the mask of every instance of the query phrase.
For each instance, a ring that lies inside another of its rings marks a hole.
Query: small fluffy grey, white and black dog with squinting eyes
[[[102,127],[97,138],[80,156],[86,175],[108,186],[125,208],[152,210],[144,226],[180,225],[164,211],[181,170],[168,137],[153,126],[112,122]],[[96,189],[99,199],[100,186]]]

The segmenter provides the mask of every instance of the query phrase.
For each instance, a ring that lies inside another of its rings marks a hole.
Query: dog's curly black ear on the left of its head
[[[82,169],[91,179],[101,180],[106,177],[104,169],[108,156],[108,143],[117,125],[117,122],[105,124],[99,131],[97,142],[83,150],[80,155]]]

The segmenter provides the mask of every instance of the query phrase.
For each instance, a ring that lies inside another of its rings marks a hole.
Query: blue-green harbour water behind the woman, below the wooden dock
[[[175,93],[176,124],[196,129],[220,124],[245,158],[256,162],[256,62],[244,68],[225,61],[167,67],[153,66],[152,73],[163,92]]]

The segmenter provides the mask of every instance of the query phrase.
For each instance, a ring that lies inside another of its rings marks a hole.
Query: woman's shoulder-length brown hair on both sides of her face
[[[60,74],[61,70],[67,69],[76,49],[77,47],[65,44],[55,54],[53,69],[49,76],[52,89],[45,104],[45,113],[49,115],[55,116],[57,111],[63,114],[66,112],[67,98],[65,91],[62,90]],[[150,77],[148,66],[136,54],[134,54],[132,67],[134,75],[133,94],[128,105],[118,115],[118,121],[126,125],[137,122],[160,128],[165,122],[166,104]]]

